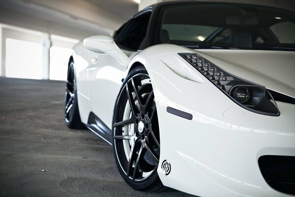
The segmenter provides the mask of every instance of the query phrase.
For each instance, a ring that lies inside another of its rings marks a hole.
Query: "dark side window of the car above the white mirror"
[[[116,36],[116,43],[119,47],[129,51],[137,51],[144,41],[151,11],[137,16],[128,21]]]

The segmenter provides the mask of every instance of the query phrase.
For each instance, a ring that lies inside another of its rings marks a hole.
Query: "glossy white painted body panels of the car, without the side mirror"
[[[111,128],[120,80],[140,62],[147,68],[154,89],[160,164],[164,160],[171,164],[167,176],[158,167],[164,185],[202,197],[288,197],[267,185],[258,158],[268,154],[295,156],[295,105],[277,102],[278,117],[240,107],[177,54],[191,51],[170,44],[152,46],[136,56],[131,54],[127,68],[110,54],[93,53],[78,44],[73,58],[82,121],[87,123],[93,111]],[[294,52],[194,52],[238,77],[295,96],[294,79],[286,73],[294,71]],[[91,63],[93,57],[97,63]],[[167,113],[167,106],[191,113],[193,119]]]

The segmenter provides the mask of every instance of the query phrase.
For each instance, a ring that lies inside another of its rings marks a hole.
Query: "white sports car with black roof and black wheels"
[[[295,195],[295,13],[234,3],[152,5],[78,43],[65,122],[113,145],[148,192]]]

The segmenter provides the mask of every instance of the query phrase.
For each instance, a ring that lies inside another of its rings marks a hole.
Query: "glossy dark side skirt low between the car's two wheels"
[[[85,124],[85,126],[90,131],[112,145],[112,130],[106,124],[104,124],[104,122],[99,119],[93,112],[89,113],[88,122],[87,124]]]

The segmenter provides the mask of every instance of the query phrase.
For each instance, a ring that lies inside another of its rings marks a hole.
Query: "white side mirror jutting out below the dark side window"
[[[84,46],[95,53],[108,54],[121,65],[127,66],[128,57],[119,49],[110,35],[94,35],[84,39]]]

